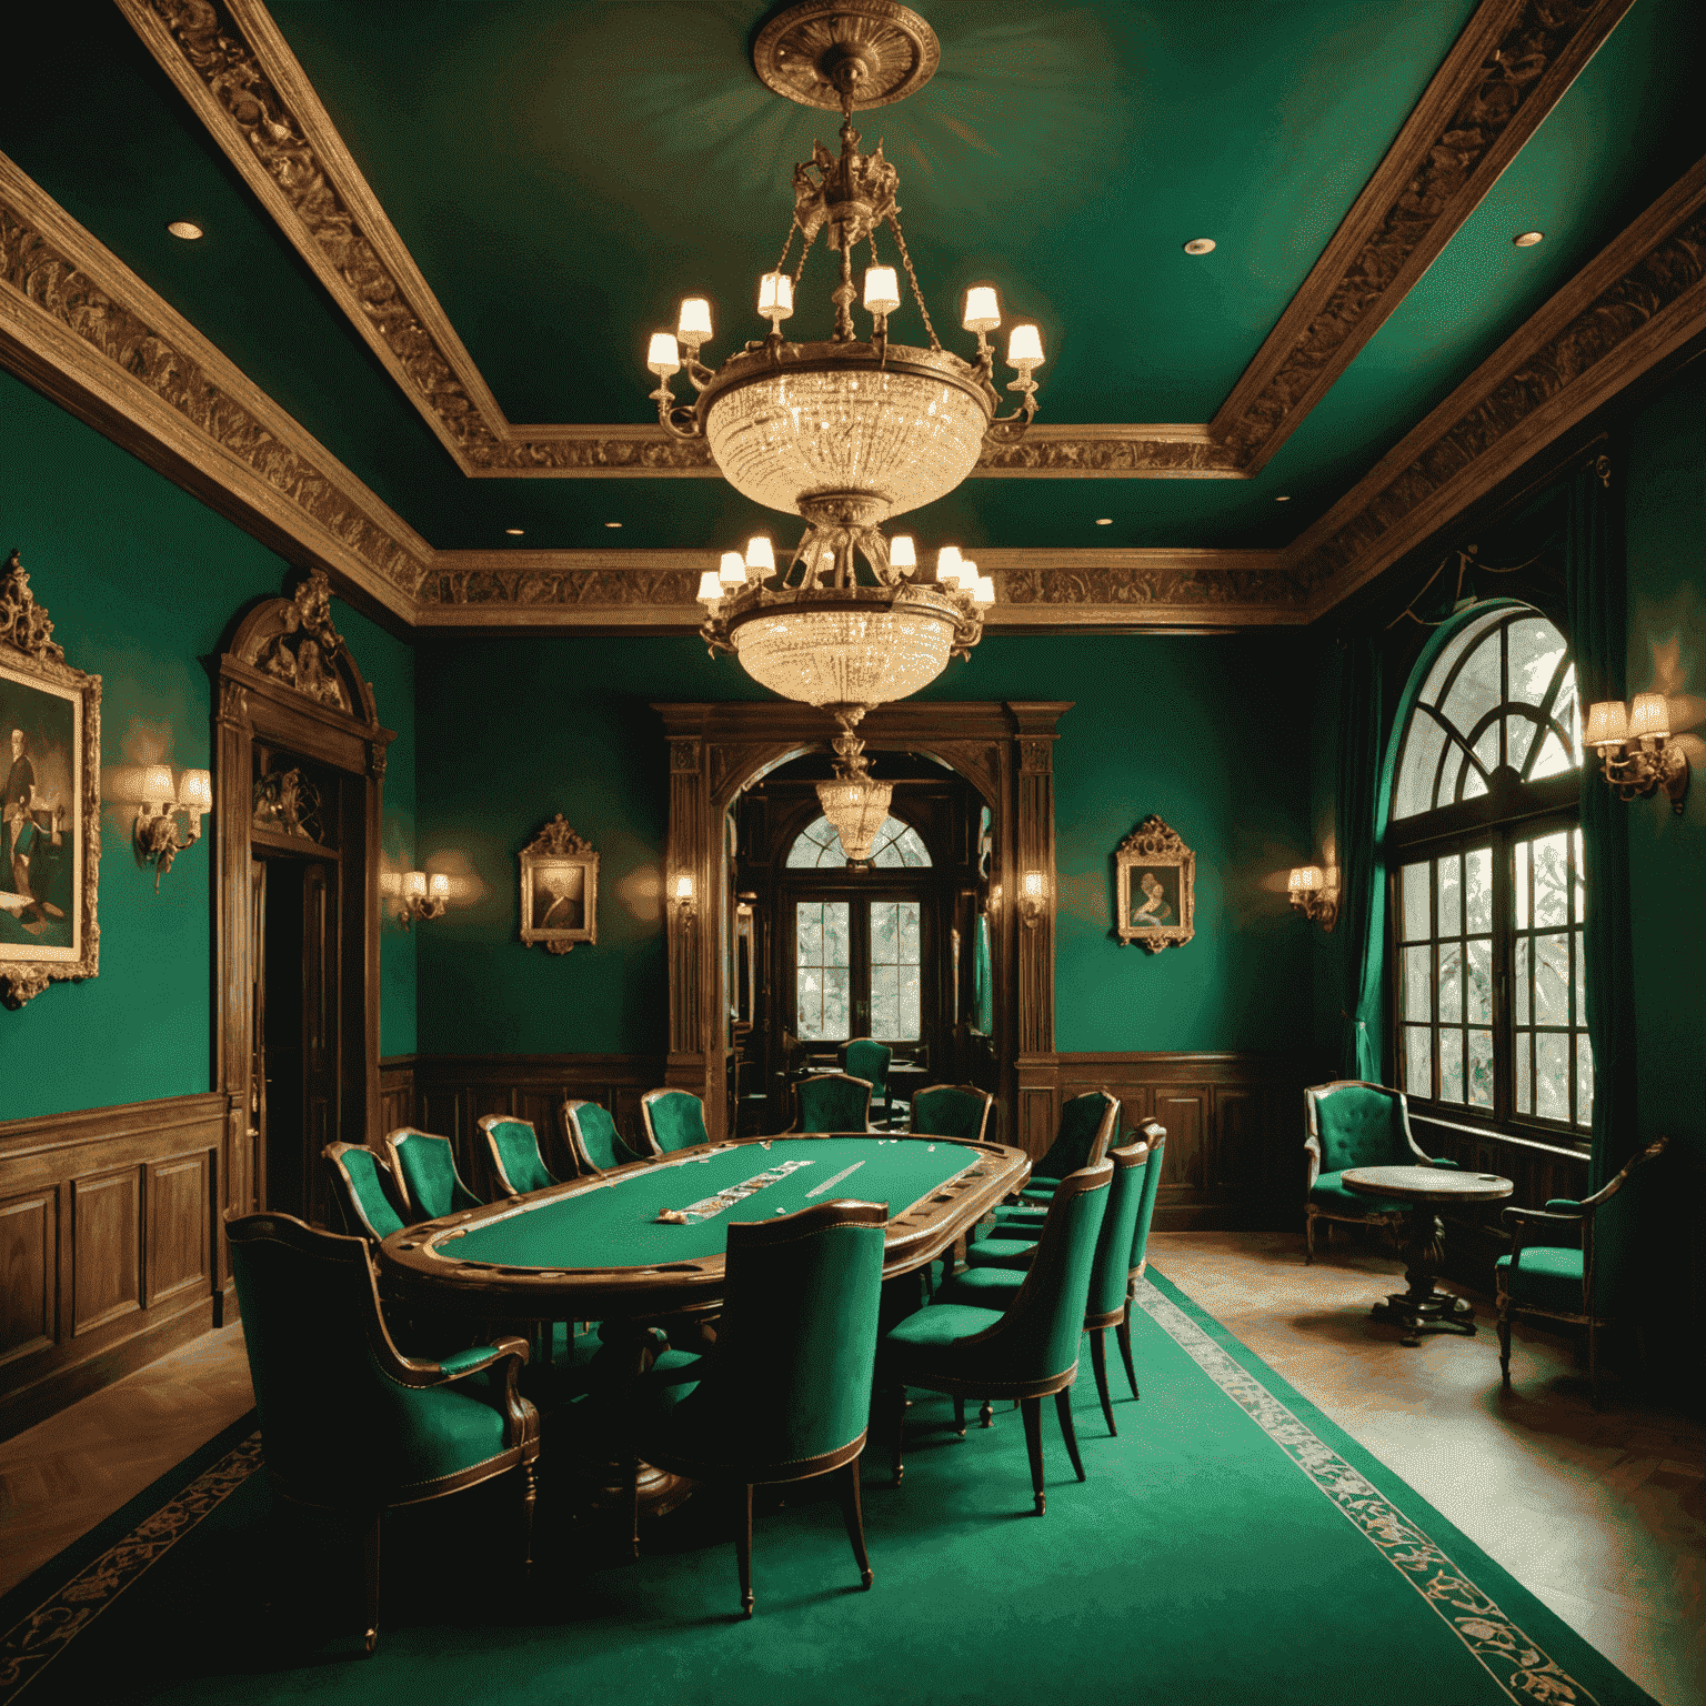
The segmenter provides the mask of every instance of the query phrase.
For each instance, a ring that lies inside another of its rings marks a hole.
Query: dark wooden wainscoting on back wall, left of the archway
[[[387,1066],[394,1090],[387,1090]],[[616,1129],[638,1141],[640,1097],[664,1083],[662,1054],[416,1054],[411,1059],[409,1090],[404,1092],[401,1063],[380,1063],[380,1102],[403,1107],[413,1099],[413,1117],[386,1124],[411,1124],[456,1143],[456,1162],[471,1191],[498,1196],[491,1160],[481,1140],[483,1114],[515,1114],[531,1119],[539,1133],[544,1163],[560,1179],[573,1175],[560,1129],[558,1109],[565,1095],[597,1102],[611,1111]],[[396,1100],[392,1102],[392,1095]],[[374,1143],[384,1131],[374,1134]]]

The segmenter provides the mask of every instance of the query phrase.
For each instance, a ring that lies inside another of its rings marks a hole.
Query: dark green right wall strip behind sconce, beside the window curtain
[[[1662,795],[1629,805],[1639,1121],[1643,1136],[1670,1133],[1706,1157],[1706,363],[1636,415],[1622,461],[1629,691],[1672,696],[1694,766],[1680,817]]]

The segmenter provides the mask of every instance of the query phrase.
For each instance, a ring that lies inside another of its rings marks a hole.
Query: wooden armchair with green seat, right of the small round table
[[[1599,1264],[1600,1220],[1610,1225],[1624,1216],[1622,1242],[1633,1242],[1628,1220],[1636,1213],[1643,1194],[1629,1189],[1629,1175],[1638,1167],[1658,1160],[1670,1146],[1668,1138],[1658,1138],[1639,1155],[1633,1155],[1616,1179],[1607,1181],[1592,1196],[1552,1198],[1546,1208],[1506,1208],[1505,1225],[1512,1232],[1510,1254],[1493,1266],[1493,1285],[1498,1291],[1498,1365],[1505,1385],[1510,1385],[1510,1322],[1513,1315],[1537,1315],[1544,1320],[1564,1320],[1588,1329],[1588,1384],[1593,1404],[1599,1406],[1599,1334],[1609,1327],[1622,1298]],[[1556,1245],[1547,1239],[1568,1237],[1571,1244]]]

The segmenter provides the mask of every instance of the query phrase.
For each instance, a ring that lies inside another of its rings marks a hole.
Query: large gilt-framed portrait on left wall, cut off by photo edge
[[[65,662],[14,551],[0,565],[0,1003],[101,966],[101,677]]]

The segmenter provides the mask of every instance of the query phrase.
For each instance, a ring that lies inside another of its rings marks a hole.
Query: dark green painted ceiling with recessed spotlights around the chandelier
[[[1041,319],[1044,420],[1204,421],[1471,9],[935,0],[942,70],[862,130],[901,167],[938,328],[972,280]],[[836,121],[756,80],[761,9],[271,12],[512,421],[648,420],[645,336],[682,293],[717,305],[713,358],[763,329],[746,304],[781,244],[788,171]],[[1013,548],[1286,543],[1706,154],[1684,46],[1696,12],[1636,0],[1257,479],[978,479],[913,531]],[[0,148],[432,544],[503,546],[519,525],[524,548],[706,546],[780,520],[708,479],[462,479],[118,10],[73,0],[26,34],[31,77],[9,89]],[[181,217],[206,239],[167,237]],[[1534,227],[1546,242],[1513,249]],[[1184,256],[1196,235],[1215,254]],[[827,322],[827,287],[819,254],[792,329]]]

